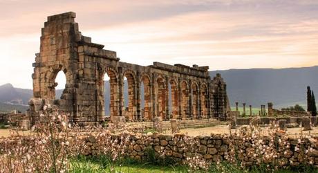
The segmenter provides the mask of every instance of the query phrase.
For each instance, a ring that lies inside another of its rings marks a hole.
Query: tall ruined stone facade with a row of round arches
[[[177,118],[225,120],[226,84],[221,75],[211,80],[208,66],[174,66],[153,62],[139,66],[120,62],[114,51],[104,50],[79,32],[75,13],[48,17],[41,29],[40,53],[33,64],[33,93],[30,100],[31,121],[37,121],[44,104],[52,104],[68,114],[71,122],[104,120],[104,75],[111,85],[110,113],[129,121]],[[66,75],[61,98],[55,98],[55,78],[59,71]],[[128,80],[129,104],[124,107],[124,77]],[[144,108],[140,87],[144,86]],[[171,103],[169,107],[169,88]],[[171,113],[169,113],[171,109]]]

